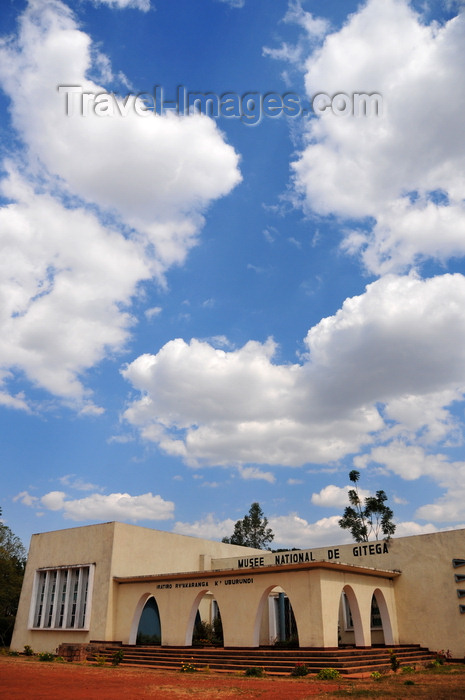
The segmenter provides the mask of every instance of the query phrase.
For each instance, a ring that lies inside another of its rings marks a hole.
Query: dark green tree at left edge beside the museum
[[[8,646],[11,641],[25,565],[26,550],[21,540],[0,522],[0,646]]]

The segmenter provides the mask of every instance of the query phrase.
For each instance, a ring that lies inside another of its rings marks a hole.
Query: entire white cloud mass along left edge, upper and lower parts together
[[[11,147],[0,183],[9,202],[0,209],[0,380],[22,371],[94,415],[102,409],[83,373],[124,348],[139,285],[164,283],[196,243],[204,209],[240,181],[237,154],[207,117],[67,116],[58,86],[105,92],[97,76],[115,81],[60,0],[30,0],[17,34],[0,43],[0,85],[23,144]]]

